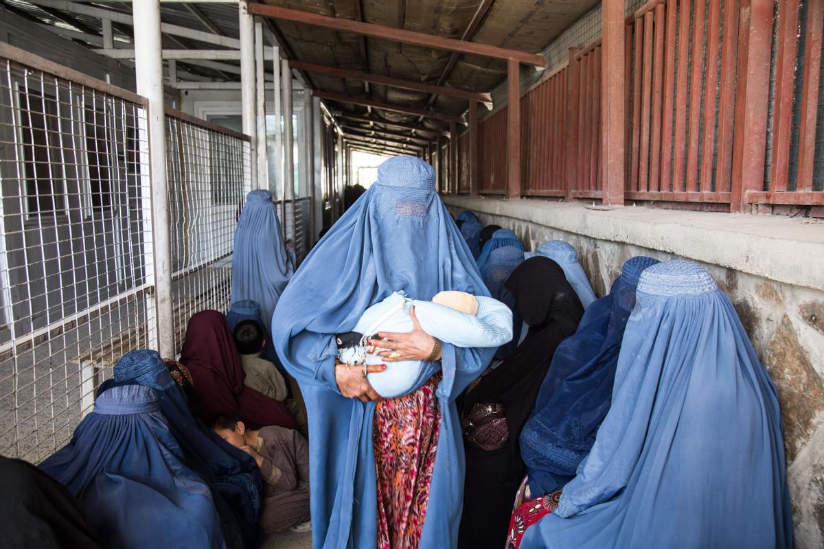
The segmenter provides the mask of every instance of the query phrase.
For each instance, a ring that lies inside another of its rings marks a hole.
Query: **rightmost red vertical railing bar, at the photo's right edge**
[[[824,2],[808,0],[807,35],[804,46],[804,74],[801,86],[801,128],[798,130],[797,191],[812,190],[812,163],[816,151],[818,77],[822,63]]]

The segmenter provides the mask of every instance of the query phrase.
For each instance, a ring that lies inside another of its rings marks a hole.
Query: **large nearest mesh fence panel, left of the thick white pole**
[[[53,68],[0,52],[0,454],[35,463],[155,336],[144,105]]]

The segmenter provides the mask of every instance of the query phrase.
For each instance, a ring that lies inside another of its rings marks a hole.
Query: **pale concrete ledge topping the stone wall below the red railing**
[[[656,249],[796,286],[824,289],[824,223],[647,207],[594,210],[540,199],[442,197],[447,206]]]

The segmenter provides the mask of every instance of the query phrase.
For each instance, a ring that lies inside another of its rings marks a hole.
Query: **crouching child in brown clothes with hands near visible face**
[[[265,533],[309,530],[309,444],[296,430],[249,429],[236,416],[217,416],[212,429],[255,459],[265,482],[260,526]]]

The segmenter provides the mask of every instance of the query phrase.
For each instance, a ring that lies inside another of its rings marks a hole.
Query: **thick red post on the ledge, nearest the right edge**
[[[742,0],[731,212],[746,212],[747,191],[761,190],[764,185],[772,17],[772,0]]]

